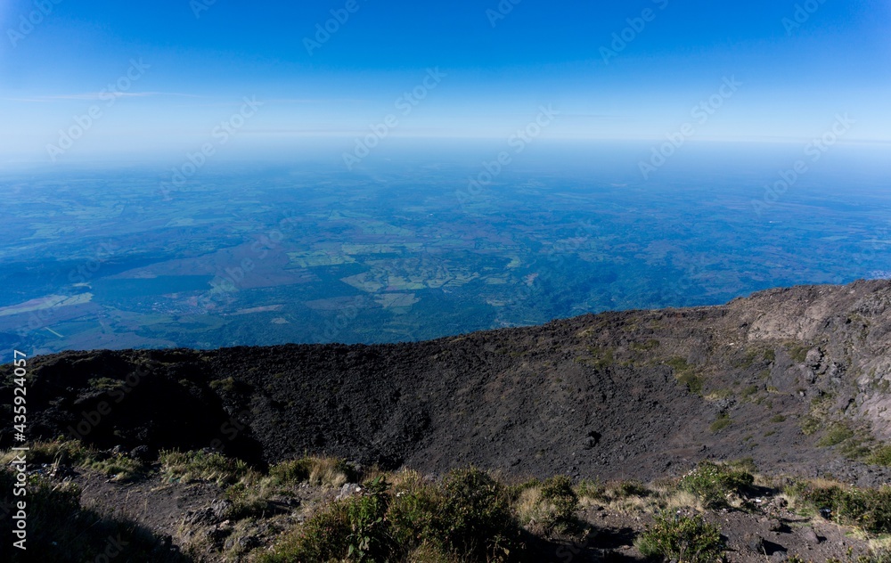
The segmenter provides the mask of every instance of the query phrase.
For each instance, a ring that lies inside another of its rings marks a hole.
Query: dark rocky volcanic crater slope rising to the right
[[[841,455],[891,438],[889,331],[874,281],[416,344],[65,353],[31,361],[31,432],[604,478],[751,456],[875,482]]]

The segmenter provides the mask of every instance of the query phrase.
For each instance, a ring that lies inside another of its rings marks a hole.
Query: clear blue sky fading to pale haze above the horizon
[[[49,162],[78,123],[57,161],[191,150],[245,98],[244,149],[346,148],[388,116],[394,137],[503,139],[549,106],[543,137],[801,142],[849,114],[846,141],[891,142],[887,0],[211,1],[2,4],[0,162]]]

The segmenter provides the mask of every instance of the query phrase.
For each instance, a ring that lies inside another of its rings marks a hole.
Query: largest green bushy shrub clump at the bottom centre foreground
[[[362,494],[315,513],[259,560],[400,561],[414,551],[433,560],[499,561],[521,549],[507,489],[483,471],[458,469],[439,485],[382,478]]]

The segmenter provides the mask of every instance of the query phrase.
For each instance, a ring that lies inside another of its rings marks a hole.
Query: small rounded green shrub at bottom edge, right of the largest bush
[[[712,563],[723,556],[721,531],[701,516],[663,512],[641,534],[637,547],[645,557],[662,557],[682,563]]]

